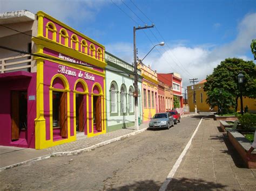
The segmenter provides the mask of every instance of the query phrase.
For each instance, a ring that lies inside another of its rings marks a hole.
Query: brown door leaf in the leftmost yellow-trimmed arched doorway
[[[59,124],[60,136],[68,137],[68,114],[66,110],[66,93],[60,93]]]

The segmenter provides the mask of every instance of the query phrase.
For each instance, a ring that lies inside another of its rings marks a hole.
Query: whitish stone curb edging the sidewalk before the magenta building
[[[120,136],[120,137],[117,137],[117,138],[106,140],[105,142],[97,143],[97,144],[89,146],[89,147],[81,148],[79,150],[51,153],[51,154],[44,155],[42,157],[37,157],[37,158],[34,158],[34,159],[19,162],[19,163],[14,164],[14,165],[5,166],[5,167],[0,168],[0,172],[4,171],[5,169],[9,169],[9,168],[13,168],[13,167],[16,167],[16,166],[21,166],[21,165],[27,164],[27,163],[32,162],[32,161],[48,159],[50,157],[72,156],[72,155],[80,154],[82,152],[91,151],[91,150],[94,150],[95,148],[98,148],[98,147],[101,147],[101,146],[104,146],[104,145],[107,145],[107,144],[110,144],[110,143],[117,142],[118,140],[121,140],[123,138],[127,138],[127,137],[130,137],[130,136],[133,136],[133,135],[137,135],[138,133],[142,133],[145,130],[147,130],[147,128],[143,128],[143,129],[140,129],[138,131],[134,131],[134,132],[131,132],[127,135],[123,135],[123,136]]]

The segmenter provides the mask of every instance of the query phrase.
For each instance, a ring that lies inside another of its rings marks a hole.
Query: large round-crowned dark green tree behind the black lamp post
[[[244,74],[242,87],[238,84],[239,72]],[[204,90],[208,96],[207,103],[213,106],[220,106],[220,89],[226,99],[223,108],[227,112],[230,107],[237,110],[240,88],[243,96],[256,97],[256,66],[253,61],[244,61],[238,58],[228,58],[220,62],[213,73],[206,77]]]

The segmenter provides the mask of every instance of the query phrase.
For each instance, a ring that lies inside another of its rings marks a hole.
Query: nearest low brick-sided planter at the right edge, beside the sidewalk
[[[246,159],[246,153],[251,147],[251,143],[237,130],[228,131],[228,139],[234,148],[240,154],[242,160],[245,161],[248,168],[256,168],[256,151],[254,150],[251,155],[251,160]]]

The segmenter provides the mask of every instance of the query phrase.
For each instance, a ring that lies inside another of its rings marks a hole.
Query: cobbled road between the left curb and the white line
[[[0,173],[0,189],[157,190],[201,116],[169,130],[149,130],[71,157],[52,157]]]

